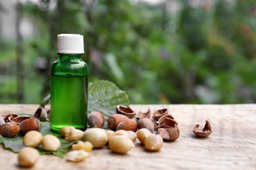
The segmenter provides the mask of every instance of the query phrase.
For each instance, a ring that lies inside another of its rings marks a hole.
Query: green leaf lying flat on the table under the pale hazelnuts
[[[58,148],[57,151],[55,152],[49,152],[49,151],[45,151],[43,150],[43,148],[41,146],[39,146],[37,148],[37,150],[40,152],[40,154],[54,154],[60,158],[63,158],[66,154],[66,152],[68,152],[68,148],[74,144],[75,142],[67,142],[65,141],[65,139],[57,134],[57,133],[53,133],[50,129],[50,124],[49,122],[41,122],[42,124],[42,129],[41,129],[41,134],[44,135],[54,135],[56,137],[58,137],[58,139],[60,140],[60,148]],[[22,143],[22,139],[23,136],[19,133],[16,137],[14,138],[9,138],[9,137],[1,137],[0,138],[0,144],[3,144],[3,147],[7,150],[11,150],[12,152],[18,153],[24,146],[24,144]]]

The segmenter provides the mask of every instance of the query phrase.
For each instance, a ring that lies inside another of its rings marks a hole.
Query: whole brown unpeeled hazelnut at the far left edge
[[[18,134],[20,128],[13,122],[7,122],[0,126],[0,135],[3,137],[14,137]]]

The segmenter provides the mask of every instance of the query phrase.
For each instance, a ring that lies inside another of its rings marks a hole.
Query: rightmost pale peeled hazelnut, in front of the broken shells
[[[145,140],[145,148],[150,151],[158,151],[163,146],[163,138],[160,135],[149,135]]]

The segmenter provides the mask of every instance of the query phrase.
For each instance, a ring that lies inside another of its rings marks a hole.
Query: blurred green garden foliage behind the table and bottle
[[[255,0],[0,0],[0,103],[50,92],[56,35],[133,104],[255,103]]]

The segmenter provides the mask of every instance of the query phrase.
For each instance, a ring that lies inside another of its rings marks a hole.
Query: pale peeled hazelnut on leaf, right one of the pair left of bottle
[[[54,135],[45,135],[42,139],[42,148],[47,151],[56,151],[60,148],[60,140]]]

